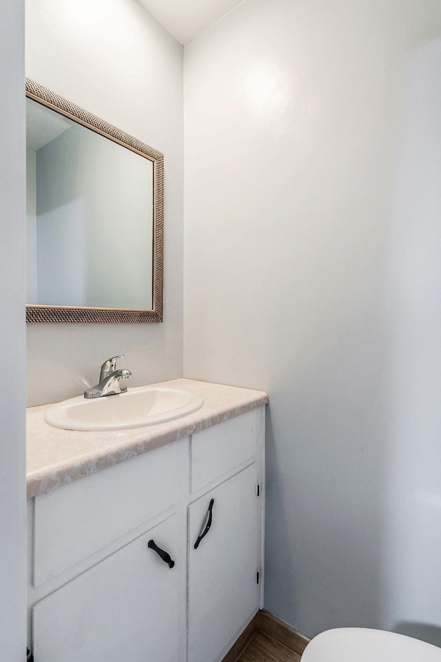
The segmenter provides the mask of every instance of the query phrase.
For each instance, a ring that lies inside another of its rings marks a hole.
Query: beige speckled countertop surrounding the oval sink
[[[203,408],[170,423],[112,432],[81,432],[52,428],[44,420],[51,405],[27,410],[28,497],[58,488],[101,469],[141,455],[158,446],[210,428],[260,405],[263,391],[212,384],[193,379],[174,379],[156,386],[185,388],[201,394]]]

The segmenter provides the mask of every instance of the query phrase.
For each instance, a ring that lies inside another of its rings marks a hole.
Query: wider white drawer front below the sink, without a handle
[[[174,442],[37,496],[34,586],[170,508],[177,485]]]

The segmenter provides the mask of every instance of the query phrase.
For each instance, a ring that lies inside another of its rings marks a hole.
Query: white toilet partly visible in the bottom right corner
[[[302,662],[441,662],[441,648],[395,632],[337,628],[315,636]]]

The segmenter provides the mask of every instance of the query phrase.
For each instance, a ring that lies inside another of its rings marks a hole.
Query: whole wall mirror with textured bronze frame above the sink
[[[161,322],[163,154],[26,79],[28,322]]]

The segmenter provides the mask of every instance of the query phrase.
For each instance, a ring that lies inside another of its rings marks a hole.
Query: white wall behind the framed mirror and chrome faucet
[[[29,324],[29,405],[81,394],[115,354],[132,385],[182,375],[182,60],[137,0],[27,5],[26,75],[165,154],[164,322]]]

